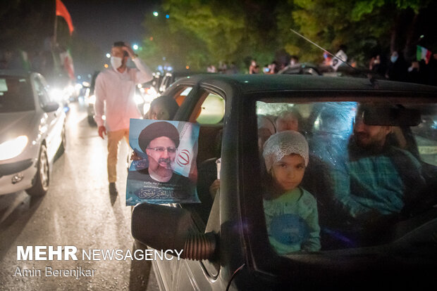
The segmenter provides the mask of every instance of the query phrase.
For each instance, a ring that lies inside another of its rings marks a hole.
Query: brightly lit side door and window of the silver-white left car
[[[42,112],[40,131],[44,135],[47,143],[47,155],[51,160],[56,151],[59,148],[62,140],[62,130],[63,130],[63,110],[59,106],[56,110],[44,111],[47,105],[54,103],[54,100],[49,95],[47,91],[47,83],[44,77],[41,75],[34,75],[33,82],[35,84],[35,91],[37,93],[39,108],[37,111]]]

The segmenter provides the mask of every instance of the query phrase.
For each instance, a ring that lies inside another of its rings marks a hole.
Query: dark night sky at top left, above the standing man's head
[[[75,33],[110,51],[114,41],[140,43],[144,15],[158,8],[159,0],[62,0],[70,12]]]

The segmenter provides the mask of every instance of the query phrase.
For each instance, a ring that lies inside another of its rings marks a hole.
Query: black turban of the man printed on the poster
[[[170,138],[175,143],[176,148],[178,148],[179,131],[173,124],[168,122],[154,122],[145,127],[140,132],[140,136],[138,136],[138,145],[140,145],[141,150],[146,153],[146,148],[149,146],[149,143],[161,136]]]

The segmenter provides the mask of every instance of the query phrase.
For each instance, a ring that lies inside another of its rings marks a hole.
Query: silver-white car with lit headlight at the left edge
[[[37,72],[0,70],[0,195],[44,195],[66,149],[66,114]]]

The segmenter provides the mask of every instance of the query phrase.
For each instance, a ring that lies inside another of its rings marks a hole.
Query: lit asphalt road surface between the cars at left
[[[0,196],[0,290],[158,290],[150,261],[82,260],[82,250],[134,250],[124,196],[128,145],[121,144],[119,194],[111,197],[106,141],[87,123],[83,105],[70,105],[67,151],[53,164],[47,195],[30,198],[21,191]],[[78,261],[18,261],[18,245],[75,246]],[[95,271],[88,277],[54,277],[46,276],[47,267]],[[35,276],[19,276],[18,269]]]

